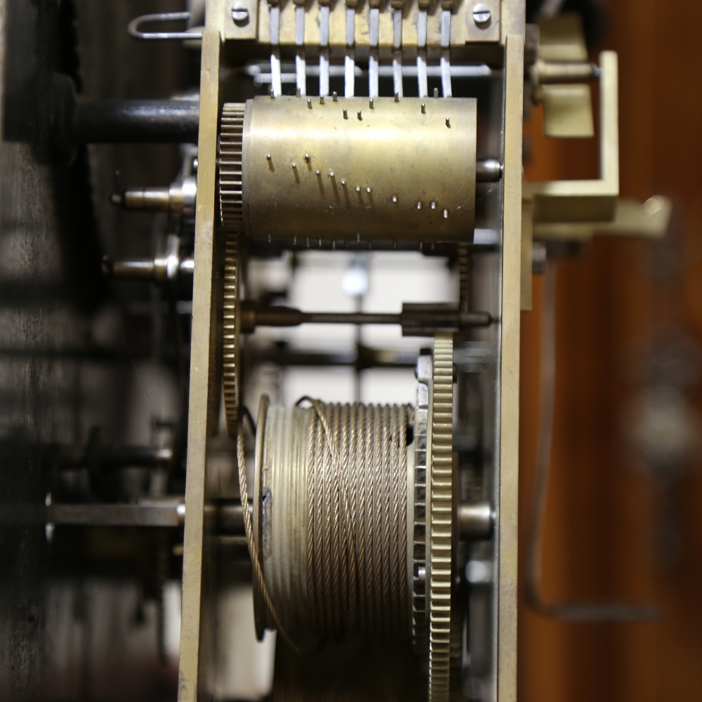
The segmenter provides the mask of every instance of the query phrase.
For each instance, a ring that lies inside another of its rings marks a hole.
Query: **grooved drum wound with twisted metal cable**
[[[270,406],[256,442],[254,534],[265,590],[300,648],[411,630],[413,447],[407,405]],[[275,628],[255,586],[259,637]]]

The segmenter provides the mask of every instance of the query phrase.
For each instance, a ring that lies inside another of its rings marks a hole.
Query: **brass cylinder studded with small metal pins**
[[[258,239],[470,241],[473,99],[254,98],[244,231]]]

